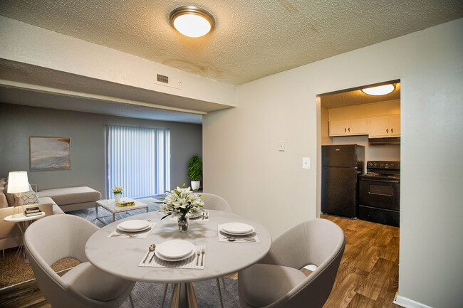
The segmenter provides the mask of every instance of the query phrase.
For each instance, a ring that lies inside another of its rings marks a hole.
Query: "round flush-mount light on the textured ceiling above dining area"
[[[214,28],[214,17],[196,6],[180,6],[170,13],[170,24],[184,36],[199,38]]]

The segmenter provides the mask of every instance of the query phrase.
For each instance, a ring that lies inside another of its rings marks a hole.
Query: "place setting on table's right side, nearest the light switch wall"
[[[231,222],[218,225],[217,235],[219,242],[261,243],[256,229],[246,223]]]

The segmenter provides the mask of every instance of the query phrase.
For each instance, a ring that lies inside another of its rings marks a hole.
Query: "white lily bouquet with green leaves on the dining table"
[[[191,187],[185,188],[185,184],[183,184],[183,188],[177,187],[161,199],[164,201],[157,203],[162,203],[160,211],[166,214],[161,219],[172,215],[172,217],[180,218],[180,220],[186,220],[188,214],[197,216],[202,213],[204,206],[201,196],[194,193]]]

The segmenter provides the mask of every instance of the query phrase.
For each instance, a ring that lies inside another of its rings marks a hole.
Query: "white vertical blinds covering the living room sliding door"
[[[108,197],[152,196],[170,190],[170,130],[108,125]]]

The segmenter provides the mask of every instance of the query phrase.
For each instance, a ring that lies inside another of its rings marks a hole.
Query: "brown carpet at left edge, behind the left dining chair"
[[[24,263],[22,254],[17,253],[18,248],[5,250],[5,256],[0,255],[0,289],[10,285],[16,285],[34,278],[31,265]],[[68,257],[59,260],[51,266],[55,272],[66,270],[78,265],[80,262]]]

